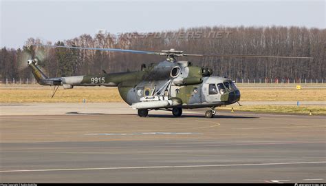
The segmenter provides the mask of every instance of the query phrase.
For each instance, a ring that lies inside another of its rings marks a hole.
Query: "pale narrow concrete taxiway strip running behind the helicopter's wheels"
[[[241,101],[242,105],[296,105],[296,101]],[[325,107],[326,101],[300,101],[300,105]],[[206,110],[206,109],[204,109]],[[126,103],[1,103],[0,116],[5,115],[61,115],[61,114],[135,114]],[[202,113],[184,110],[186,113]],[[154,111],[154,114],[166,114]]]

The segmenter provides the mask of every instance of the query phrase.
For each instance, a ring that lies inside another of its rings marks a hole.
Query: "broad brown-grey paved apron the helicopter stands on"
[[[219,112],[208,119],[190,110],[140,118],[124,103],[97,110],[65,104],[60,112],[48,106],[29,114],[26,106],[25,114],[0,116],[0,182],[326,180],[326,116]]]

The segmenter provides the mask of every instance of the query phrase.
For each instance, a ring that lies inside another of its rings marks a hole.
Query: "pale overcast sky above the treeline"
[[[206,25],[326,25],[325,0],[0,1],[0,46],[8,48],[21,48],[30,37],[53,43],[102,29],[116,34]]]

